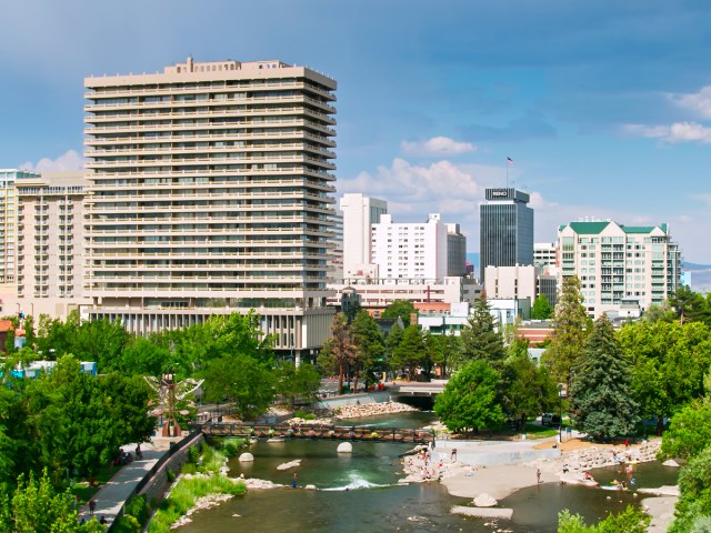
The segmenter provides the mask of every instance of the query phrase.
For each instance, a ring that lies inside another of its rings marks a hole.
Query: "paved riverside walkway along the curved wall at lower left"
[[[129,464],[121,466],[111,480],[106,485],[101,485],[99,492],[93,496],[97,502],[97,507],[93,512],[97,520],[102,516],[107,519],[107,524],[113,523],[121,505],[132,494],[136,485],[140,483],[143,476],[153,467],[153,465],[162,457],[170,449],[171,441],[179,441],[181,438],[163,439],[153,438],[149,443],[141,444],[141,451],[143,452],[143,459],[137,460],[136,444],[127,444],[123,447],[127,452],[130,451],[133,455],[133,461]],[[79,521],[91,520],[91,512],[89,511],[89,504],[82,505],[79,510]]]

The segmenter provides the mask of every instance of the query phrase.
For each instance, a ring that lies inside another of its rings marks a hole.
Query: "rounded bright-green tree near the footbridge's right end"
[[[485,361],[470,361],[434,401],[434,412],[450,431],[469,432],[503,422],[497,402],[500,375]]]

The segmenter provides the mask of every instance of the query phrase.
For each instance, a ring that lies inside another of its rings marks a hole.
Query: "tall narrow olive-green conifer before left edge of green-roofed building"
[[[542,363],[551,369],[559,383],[567,383],[570,391],[571,371],[578,365],[588,336],[588,314],[582,305],[580,280],[563,278],[561,293],[553,313],[552,341],[542,356]]]

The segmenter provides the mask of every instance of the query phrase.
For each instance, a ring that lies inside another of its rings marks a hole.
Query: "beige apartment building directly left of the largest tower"
[[[64,320],[87,303],[83,283],[83,172],[18,175],[17,305]]]

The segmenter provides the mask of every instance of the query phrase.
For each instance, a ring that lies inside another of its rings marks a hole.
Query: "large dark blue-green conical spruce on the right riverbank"
[[[595,321],[575,368],[571,408],[577,428],[598,441],[629,434],[638,412],[630,394],[631,382],[627,356],[603,314]]]

